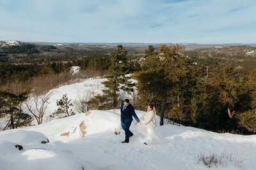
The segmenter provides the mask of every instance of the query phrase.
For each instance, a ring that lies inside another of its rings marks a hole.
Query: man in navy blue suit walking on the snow
[[[138,123],[141,124],[139,118],[137,117],[132,104],[129,103],[129,99],[125,99],[121,104],[121,127],[125,131],[125,141],[122,143],[129,143],[129,138],[133,136],[132,132],[129,130],[132,123],[132,116],[136,119]]]

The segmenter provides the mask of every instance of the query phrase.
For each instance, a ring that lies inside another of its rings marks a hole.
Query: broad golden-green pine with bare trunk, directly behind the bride
[[[137,88],[140,96],[154,94],[156,101],[159,101],[159,97],[161,98],[160,125],[163,125],[168,94],[175,85],[183,83],[182,77],[183,79],[186,77],[189,72],[186,69],[192,61],[180,53],[180,50],[184,50],[183,46],[172,45],[172,43],[170,46],[160,45],[157,53],[154,53],[153,49],[152,46],[148,46],[148,50],[145,51],[144,70],[134,77],[138,80]]]

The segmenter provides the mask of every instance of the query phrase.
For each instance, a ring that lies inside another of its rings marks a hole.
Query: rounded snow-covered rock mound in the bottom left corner
[[[43,144],[46,136],[36,131],[9,130],[0,133],[0,169],[77,169],[86,166],[65,152],[61,142]],[[90,169],[90,167],[87,167]]]

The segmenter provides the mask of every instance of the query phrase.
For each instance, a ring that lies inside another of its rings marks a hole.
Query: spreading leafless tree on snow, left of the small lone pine
[[[34,93],[24,101],[24,109],[28,110],[36,119],[37,124],[42,124],[45,110],[47,109],[49,99],[52,93],[38,94]]]

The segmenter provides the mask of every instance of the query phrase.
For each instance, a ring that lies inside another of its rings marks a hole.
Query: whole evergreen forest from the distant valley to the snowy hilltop
[[[108,78],[103,82],[106,90],[85,101],[92,110],[118,108],[122,89],[134,94],[131,103],[136,110],[154,104],[161,125],[175,122],[214,132],[255,134],[256,50],[248,53],[253,50],[245,45],[186,50],[178,44],[3,48],[0,117],[10,118],[10,129],[29,125],[32,117],[20,109],[29,94],[100,76]],[[81,67],[79,74],[70,72],[72,66]]]

